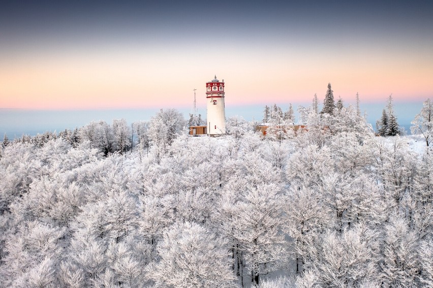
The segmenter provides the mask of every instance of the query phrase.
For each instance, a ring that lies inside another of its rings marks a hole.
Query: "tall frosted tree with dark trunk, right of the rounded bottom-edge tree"
[[[240,228],[233,231],[233,237],[243,252],[252,282],[257,284],[260,275],[279,269],[286,260],[279,189],[275,184],[250,187],[233,210],[232,221]]]

